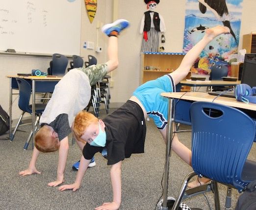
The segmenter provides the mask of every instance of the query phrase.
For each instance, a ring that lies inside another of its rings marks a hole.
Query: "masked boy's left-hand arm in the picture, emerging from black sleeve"
[[[81,182],[82,182],[82,179],[83,179],[83,175],[84,175],[84,173],[86,172],[90,161],[91,161],[91,160],[86,160],[86,159],[82,156],[82,157],[81,157],[81,160],[80,160],[79,168],[78,168],[78,171],[77,171],[77,178],[76,178],[75,183],[74,183],[74,184],[71,184],[71,185],[63,185],[63,186],[60,186],[60,187],[59,187],[59,190],[60,190],[60,191],[64,191],[64,190],[66,190],[66,189],[73,189],[73,191],[76,191],[76,190],[80,187],[80,185],[81,185]]]

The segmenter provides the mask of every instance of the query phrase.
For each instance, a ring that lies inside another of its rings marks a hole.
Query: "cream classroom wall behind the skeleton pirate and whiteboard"
[[[82,3],[83,0],[82,0]],[[97,43],[97,24],[109,23],[113,18],[113,3],[117,4],[118,14],[115,17],[124,18],[130,21],[130,27],[119,37],[119,68],[111,74],[111,104],[118,106],[130,97],[131,93],[140,84],[140,47],[142,35],[139,34],[139,25],[143,13],[146,11],[144,0],[98,0],[98,8],[93,23],[90,23],[82,6],[81,23],[81,56],[87,60],[87,55],[97,57],[98,63],[107,60],[106,47],[107,37],[98,30],[98,45],[102,52],[97,53],[91,49],[82,47],[84,41]],[[165,51],[180,52],[183,45],[184,14],[186,0],[171,1],[160,0],[156,11],[159,12],[166,24],[165,39],[163,45]],[[242,23],[240,30],[239,49],[242,47],[242,35],[256,31],[256,0],[244,0]],[[74,33],[74,32],[71,32]],[[9,108],[9,80],[6,75],[13,75],[17,72],[29,72],[31,69],[46,71],[51,58],[26,57],[26,56],[2,56],[0,55],[0,105],[4,110]],[[14,118],[18,118],[20,110],[17,107],[17,100],[13,104]]]

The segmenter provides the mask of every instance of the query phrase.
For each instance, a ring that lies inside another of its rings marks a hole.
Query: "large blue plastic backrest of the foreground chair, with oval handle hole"
[[[192,167],[197,174],[239,191],[248,184],[242,171],[255,138],[255,123],[245,113],[212,102],[191,105]]]

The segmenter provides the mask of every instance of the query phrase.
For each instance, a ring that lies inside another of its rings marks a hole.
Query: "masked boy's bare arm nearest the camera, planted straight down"
[[[103,203],[102,206],[97,207],[95,210],[118,210],[121,205],[122,197],[122,182],[121,182],[121,166],[122,161],[112,165],[110,170],[110,178],[113,189],[113,202]]]

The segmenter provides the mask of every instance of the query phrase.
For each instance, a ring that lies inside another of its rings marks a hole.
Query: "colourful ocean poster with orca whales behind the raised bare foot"
[[[204,36],[205,29],[216,25],[230,28],[230,34],[222,34],[209,43],[192,72],[209,74],[212,61],[216,65],[236,62],[241,26],[243,0],[187,0],[183,40],[183,52],[187,52]]]

